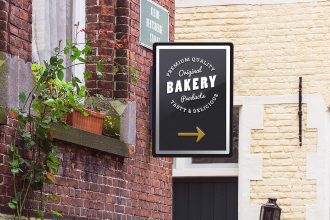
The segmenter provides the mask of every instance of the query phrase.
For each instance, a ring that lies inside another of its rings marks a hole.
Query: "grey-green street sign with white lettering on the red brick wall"
[[[152,49],[155,42],[169,41],[168,10],[152,0],[140,0],[140,43]]]

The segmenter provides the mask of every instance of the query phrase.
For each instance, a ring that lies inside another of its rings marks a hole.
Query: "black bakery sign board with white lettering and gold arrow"
[[[153,155],[230,156],[231,43],[155,43]]]

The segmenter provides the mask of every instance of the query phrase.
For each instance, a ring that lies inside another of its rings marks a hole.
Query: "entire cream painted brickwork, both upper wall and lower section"
[[[176,41],[232,42],[234,95],[322,94],[330,106],[330,1],[226,5],[176,9]],[[250,200],[279,199],[281,219],[303,220],[316,203],[316,180],[306,179],[306,155],[315,152],[317,130],[298,143],[296,104],[266,105],[264,129],[254,130],[251,153],[263,158],[262,180],[251,181]]]

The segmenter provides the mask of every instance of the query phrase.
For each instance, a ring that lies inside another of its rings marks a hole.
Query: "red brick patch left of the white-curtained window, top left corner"
[[[31,24],[31,0],[0,0],[0,51],[31,61]]]

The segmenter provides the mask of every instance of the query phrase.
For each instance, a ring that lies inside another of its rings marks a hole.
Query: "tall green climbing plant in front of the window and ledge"
[[[65,71],[76,65],[65,67],[64,56],[70,55],[71,61],[79,61],[78,64],[82,64],[88,62],[91,54],[89,45],[79,49],[77,44],[67,40],[65,47],[56,48],[53,56],[44,61],[43,65],[31,66],[35,86],[28,95],[19,94],[19,101],[23,105],[20,109],[13,109],[18,115],[18,123],[9,152],[15,194],[8,207],[15,210],[19,220],[22,219],[22,211],[31,192],[41,191],[36,212],[41,219],[44,219],[47,201],[57,200],[55,195],[42,192],[44,184],[56,181],[60,165],[51,125],[65,124],[66,115],[74,109],[83,111],[87,96],[87,89],[79,78],[73,76],[70,81],[64,81]],[[84,73],[86,79],[91,75],[88,71]],[[22,139],[23,144],[18,144],[18,139]],[[55,217],[63,217],[57,211],[52,211],[52,214]]]

